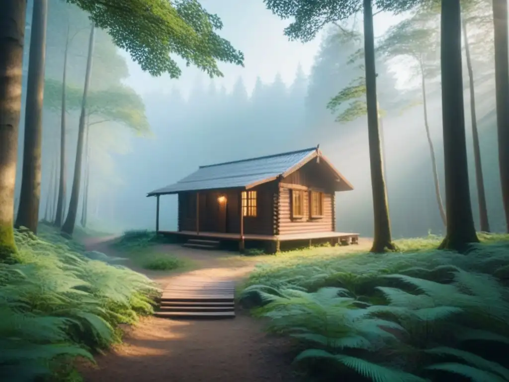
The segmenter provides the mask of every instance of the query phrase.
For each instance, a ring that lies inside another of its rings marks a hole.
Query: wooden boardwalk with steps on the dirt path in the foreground
[[[159,309],[163,318],[234,318],[235,284],[192,276],[178,276],[163,290]]]

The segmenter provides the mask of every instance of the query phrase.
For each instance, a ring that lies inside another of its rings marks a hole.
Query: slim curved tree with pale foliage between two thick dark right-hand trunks
[[[443,225],[446,225],[445,209],[440,193],[435,148],[431,138],[430,124],[428,119],[427,83],[434,80],[440,74],[439,61],[435,56],[435,41],[437,40],[438,28],[435,24],[435,15],[430,12],[421,12],[412,18],[406,19],[392,26],[377,47],[385,58],[409,57],[415,66],[412,68],[420,77],[422,111],[426,137],[430,150],[431,169],[435,185],[435,198],[438,211]]]

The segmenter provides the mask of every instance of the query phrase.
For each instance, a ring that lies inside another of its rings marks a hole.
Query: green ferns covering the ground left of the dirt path
[[[49,227],[17,231],[15,264],[0,263],[0,380],[76,380],[77,357],[121,339],[119,325],[153,313],[144,275],[91,260]]]

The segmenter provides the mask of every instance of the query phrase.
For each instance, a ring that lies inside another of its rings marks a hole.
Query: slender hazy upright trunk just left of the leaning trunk
[[[66,193],[66,165],[65,165],[65,130],[66,130],[66,93],[67,86],[67,53],[69,51],[69,22],[67,23],[67,38],[64,50],[64,69],[62,71],[62,110],[60,115],[60,178],[59,196],[56,202],[55,226],[62,226],[64,221],[64,202]]]

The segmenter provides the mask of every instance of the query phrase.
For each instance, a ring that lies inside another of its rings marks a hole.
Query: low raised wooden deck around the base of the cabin
[[[163,235],[179,235],[184,237],[203,237],[227,240],[240,240],[238,233],[223,233],[223,232],[194,232],[194,231],[158,231]],[[294,240],[309,240],[309,239],[350,239],[352,243],[356,243],[359,238],[358,233],[347,232],[309,232],[299,234],[286,234],[286,235],[252,235],[244,234],[244,240],[260,240],[260,241],[294,241]]]

